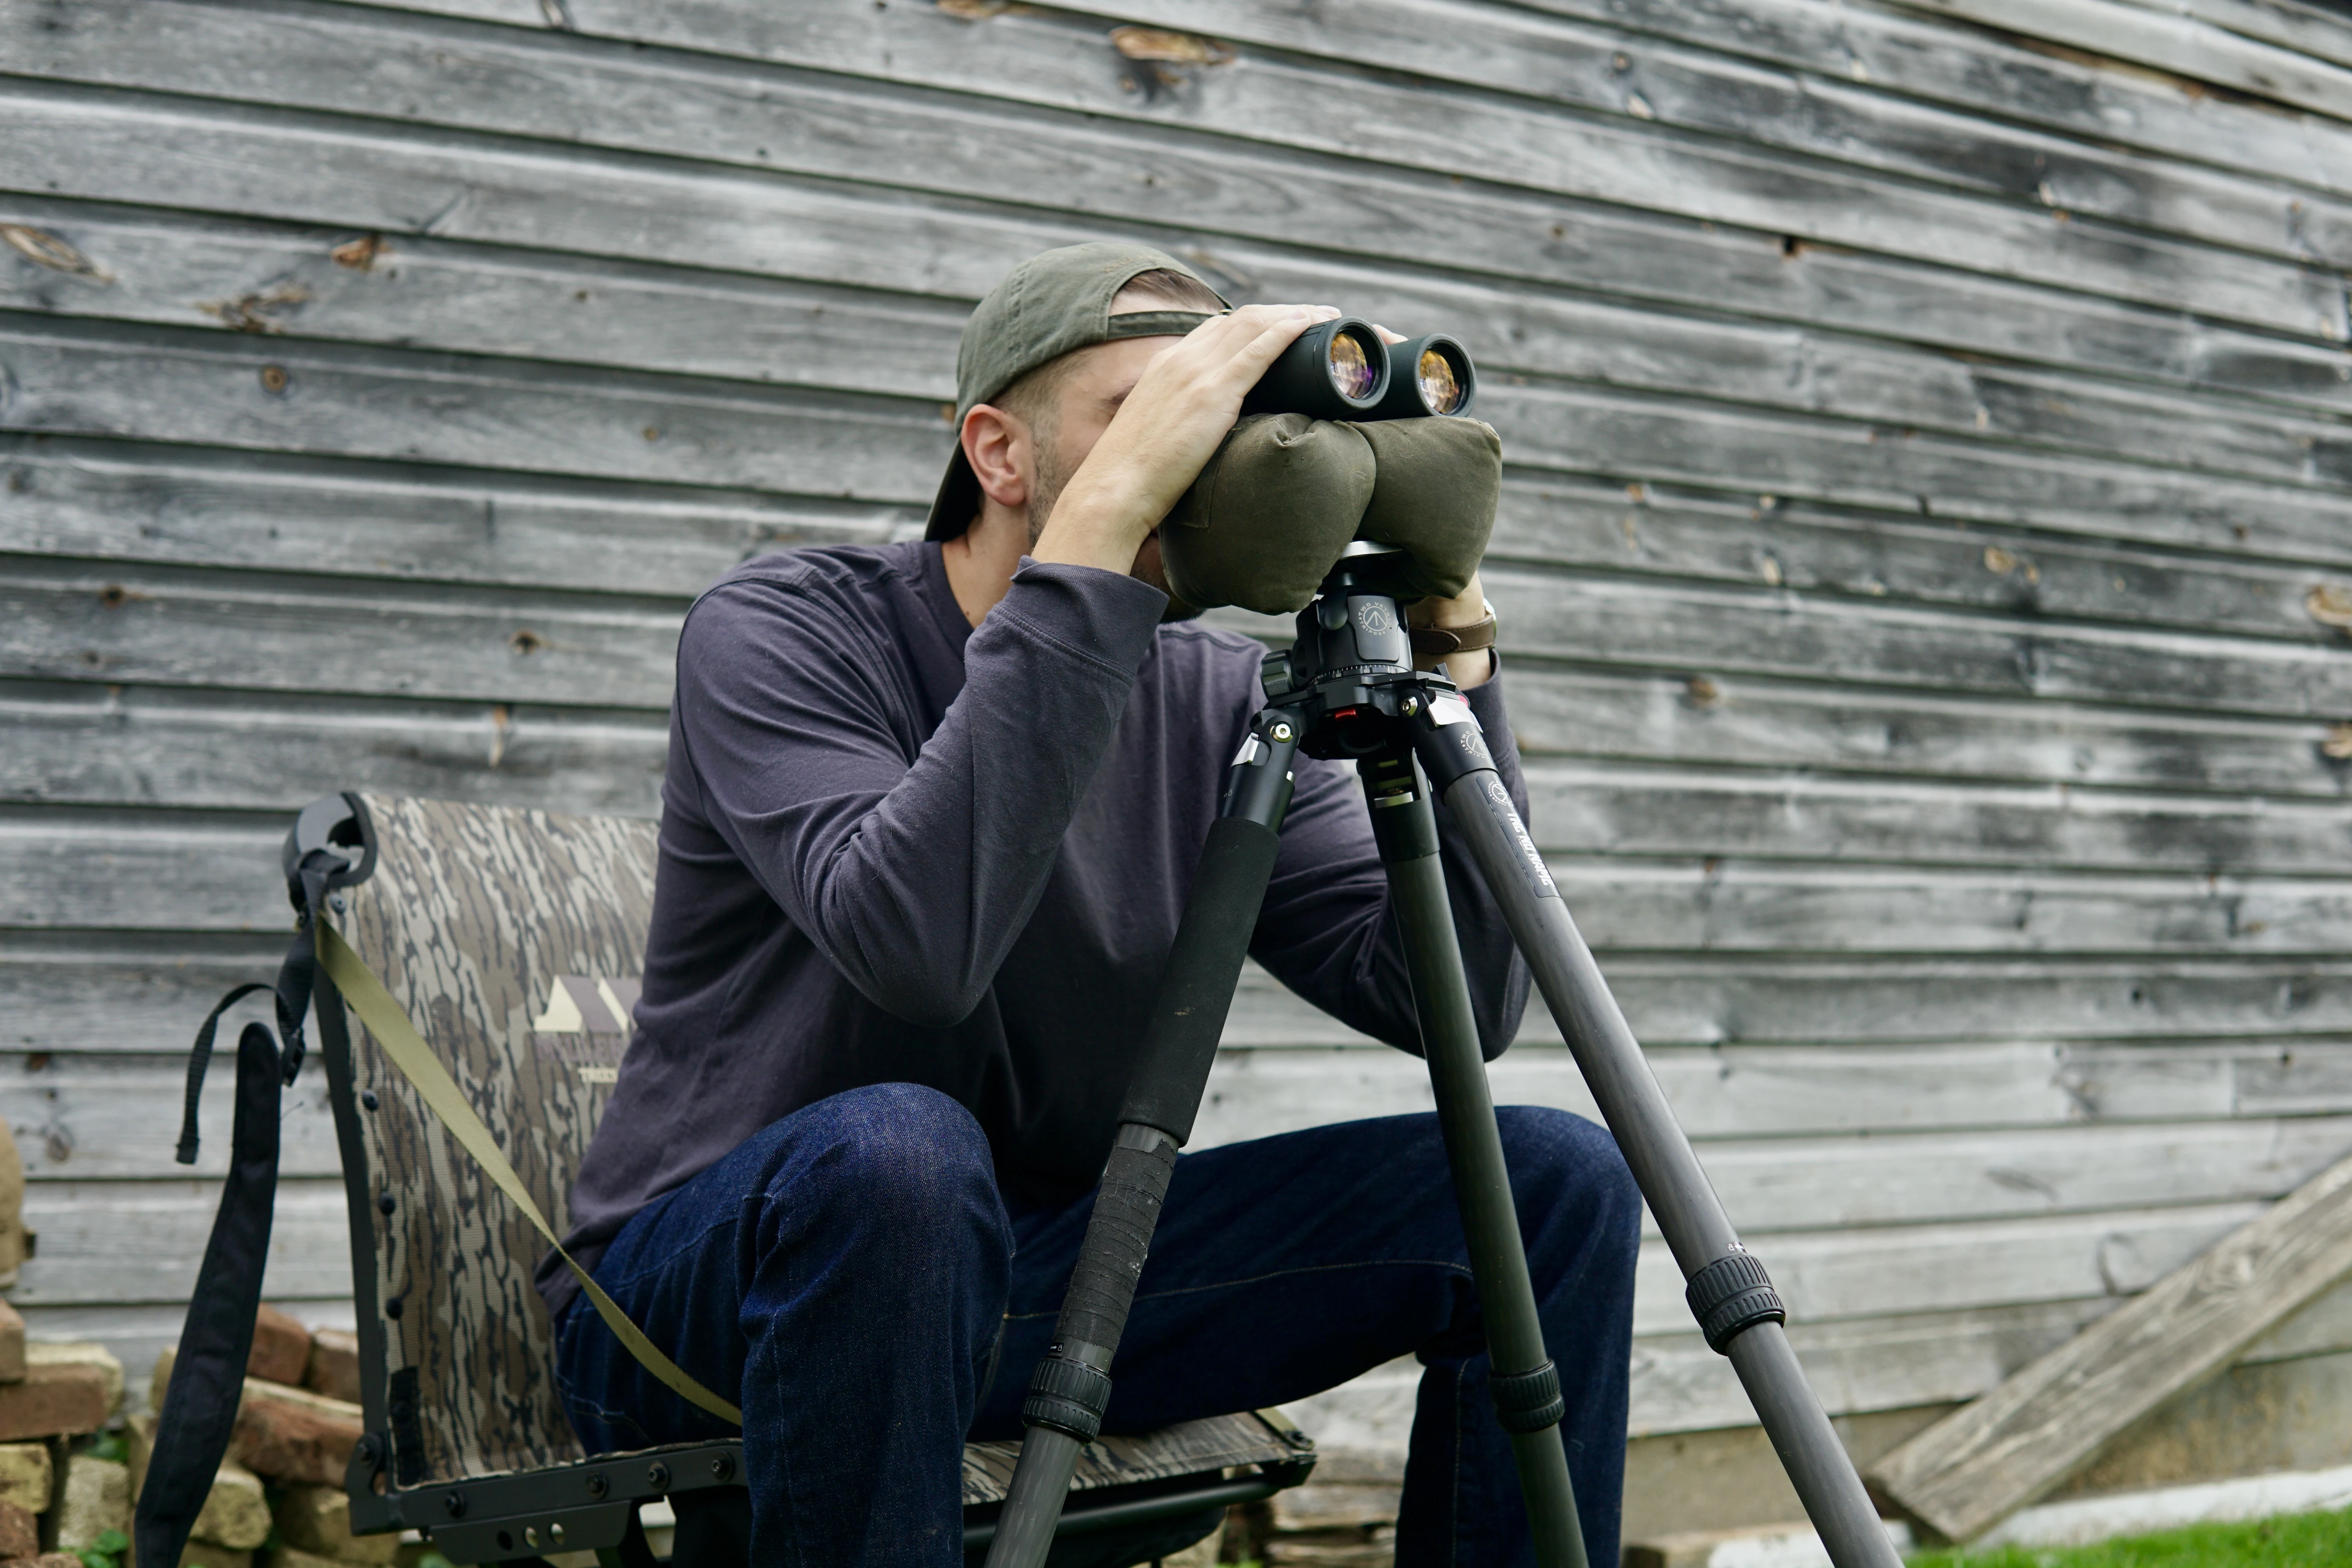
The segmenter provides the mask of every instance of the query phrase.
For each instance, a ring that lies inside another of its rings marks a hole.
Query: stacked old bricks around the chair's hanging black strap
[[[162,1410],[172,1352],[155,1363],[151,1406]],[[379,1568],[397,1535],[353,1535],[343,1474],[360,1443],[360,1345],[261,1309],[228,1458],[195,1519],[181,1568]],[[155,1418],[129,1420],[125,1519],[146,1479]],[[78,1462],[78,1460],[73,1460]],[[101,1460],[103,1462],[103,1460]],[[127,1528],[127,1526],[122,1526]],[[0,1559],[0,1568],[9,1568]],[[75,1563],[80,1568],[80,1563]],[[125,1568],[134,1568],[125,1559]]]

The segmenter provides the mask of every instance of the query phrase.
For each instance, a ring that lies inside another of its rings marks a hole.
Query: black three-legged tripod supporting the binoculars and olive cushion
[[[1764,1265],[1740,1246],[1668,1110],[1642,1046],[1496,776],[1477,717],[1451,679],[1414,670],[1399,604],[1406,564],[1404,552],[1385,545],[1348,545],[1315,599],[1298,611],[1291,649],[1265,656],[1265,708],[1249,722],[1225,771],[1223,806],[1209,827],[1160,978],[1054,1345],[1021,1406],[1028,1436],[988,1568],[1042,1568],[1077,1455],[1101,1432],[1110,1359],[1150,1253],[1176,1150],[1192,1135],[1275,867],[1291,799],[1291,759],[1301,750],[1352,757],[1364,780],[1470,1244],[1470,1274],[1486,1316],[1489,1387],[1496,1418],[1510,1434],[1536,1561],[1543,1568],[1588,1568],[1559,1441],[1566,1408],[1559,1375],[1543,1354],[1536,1293],[1437,858],[1437,795],[1470,842],[1512,940],[1526,954],[1536,987],[1665,1232],[1689,1284],[1691,1314],[1708,1345],[1731,1359],[1830,1559],[1837,1568],[1898,1568],[1877,1509],[1788,1345],[1780,1298]]]

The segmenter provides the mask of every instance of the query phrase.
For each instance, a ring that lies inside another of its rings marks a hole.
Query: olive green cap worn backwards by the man
[[[1112,339],[1148,339],[1185,334],[1207,315],[1200,310],[1124,310],[1110,313],[1138,273],[1167,268],[1209,284],[1167,252],[1148,244],[1063,244],[1030,256],[1004,275],[988,299],[964,322],[964,346],[955,353],[955,454],[948,475],[931,501],[931,527],[924,538],[960,538],[981,510],[981,480],[964,458],[964,414],[988,402],[1040,364],[1051,364],[1073,348],[1110,343]],[[1216,294],[1216,289],[1209,289]],[[1218,303],[1223,303],[1218,294]],[[1230,308],[1230,306],[1228,306]]]

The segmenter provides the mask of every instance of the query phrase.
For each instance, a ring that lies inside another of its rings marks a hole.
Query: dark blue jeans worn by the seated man
[[[1642,1218],[1616,1143],[1503,1107],[1562,1436],[1597,1568],[1618,1561],[1632,1265]],[[760,1131],[652,1204],[595,1269],[703,1385],[743,1406],[760,1568],[962,1563],[962,1443],[1021,1434],[1091,1197],[997,1192],[981,1126],[910,1084]],[[1388,1117],[1176,1161],[1112,1363],[1105,1429],[1148,1432],[1423,1363],[1399,1568],[1534,1563],[1437,1119]],[[590,1453],[731,1436],[654,1382],[595,1312],[557,1324]]]

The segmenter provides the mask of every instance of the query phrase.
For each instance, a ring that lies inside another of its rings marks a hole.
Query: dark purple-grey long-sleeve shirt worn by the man
[[[1035,1197],[1103,1168],[1263,646],[1025,562],[974,630],[936,543],[797,550],[687,614],[637,1027],[572,1187],[590,1265],[755,1131],[863,1084],[964,1103]],[[1526,811],[1498,682],[1470,693]],[[1418,1048],[1350,769],[1301,757],[1249,952]],[[1486,1053],[1526,971],[1439,809]],[[553,1262],[553,1258],[548,1260]],[[569,1272],[541,1265],[550,1307]]]

